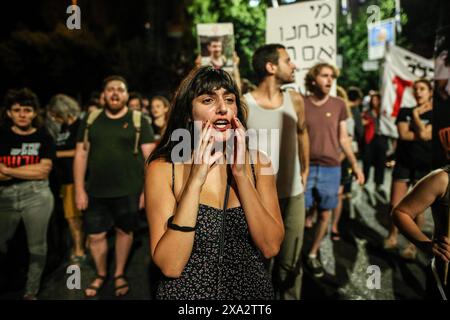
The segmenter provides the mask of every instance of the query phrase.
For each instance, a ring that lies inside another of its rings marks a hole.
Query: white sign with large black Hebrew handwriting
[[[280,43],[297,66],[295,82],[318,62],[336,65],[336,0],[307,1],[267,9],[266,43]]]

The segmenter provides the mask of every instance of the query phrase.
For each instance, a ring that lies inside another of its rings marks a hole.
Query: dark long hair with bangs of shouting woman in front
[[[188,130],[193,141],[192,101],[202,94],[212,93],[221,88],[236,96],[237,117],[244,127],[246,126],[247,109],[240,98],[239,89],[231,75],[222,69],[214,69],[210,66],[193,69],[184,78],[175,93],[166,130],[161,137],[160,143],[147,159],[147,164],[160,158],[167,162],[172,162],[170,157],[172,149],[179,143],[179,141],[171,140],[172,133],[176,129]]]

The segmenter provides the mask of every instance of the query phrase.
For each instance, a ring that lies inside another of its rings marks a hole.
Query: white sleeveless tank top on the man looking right
[[[290,93],[283,92],[283,104],[276,109],[261,107],[250,92],[244,98],[248,106],[248,132],[250,137],[252,134],[258,137],[258,145],[253,146],[253,149],[264,152],[272,161],[277,177],[278,198],[299,195],[303,192],[303,184],[298,157],[298,117]],[[250,139],[249,144],[252,140],[256,139]]]

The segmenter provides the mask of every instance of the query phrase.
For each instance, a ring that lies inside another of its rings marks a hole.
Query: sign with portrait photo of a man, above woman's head
[[[232,23],[197,25],[201,65],[233,69],[234,33]]]

